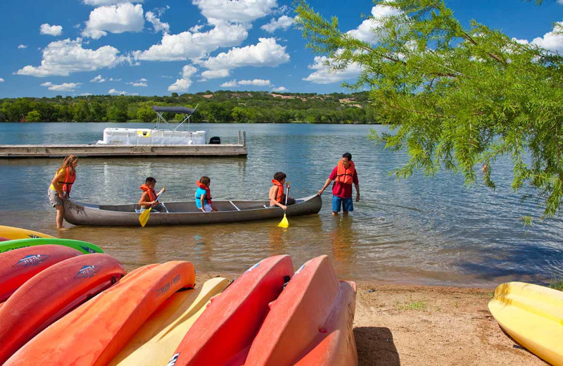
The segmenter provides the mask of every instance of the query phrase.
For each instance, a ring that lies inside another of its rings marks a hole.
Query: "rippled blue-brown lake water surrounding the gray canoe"
[[[0,123],[0,144],[84,144],[105,127],[129,123]],[[274,172],[286,172],[293,197],[315,194],[343,152],[353,154],[361,201],[349,217],[331,216],[330,188],[319,215],[279,220],[182,227],[72,227],[57,232],[46,191],[62,159],[0,160],[4,194],[0,225],[26,227],[90,241],[128,269],[165,260],[191,260],[197,270],[240,273],[270,255],[288,253],[300,266],[328,254],[341,279],[412,284],[495,286],[498,282],[549,281],[563,275],[563,220],[525,228],[519,217],[539,211],[510,190],[512,165],[493,166],[496,191],[464,187],[461,176],[388,175],[407,161],[367,138],[368,125],[198,124],[222,142],[248,137],[248,158],[82,158],[72,198],[84,203],[134,203],[145,177],[165,186],[163,201],[194,198],[195,182],[211,178],[214,198],[265,199]]]

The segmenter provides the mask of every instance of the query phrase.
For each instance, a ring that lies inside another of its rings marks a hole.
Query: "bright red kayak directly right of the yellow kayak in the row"
[[[293,274],[289,255],[276,255],[253,265],[222,294],[191,326],[168,366],[241,365],[268,303],[281,293]]]

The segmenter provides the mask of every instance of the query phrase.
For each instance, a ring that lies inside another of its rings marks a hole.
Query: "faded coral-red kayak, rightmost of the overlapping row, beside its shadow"
[[[304,365],[358,365],[352,333],[355,284],[339,282],[327,255],[305,263],[270,304],[245,365],[295,365],[310,350],[322,358]]]

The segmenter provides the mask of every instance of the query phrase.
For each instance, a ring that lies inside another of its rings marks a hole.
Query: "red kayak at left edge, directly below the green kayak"
[[[80,255],[68,246],[28,246],[0,253],[0,303],[35,274],[51,265]]]

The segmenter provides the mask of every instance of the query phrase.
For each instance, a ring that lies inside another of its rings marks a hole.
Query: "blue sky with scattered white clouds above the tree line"
[[[521,42],[563,53],[563,0],[446,0]],[[369,37],[371,1],[311,0],[341,30]],[[305,48],[291,0],[1,0],[0,98],[163,96],[216,90],[332,93],[334,74]]]

